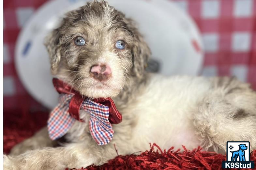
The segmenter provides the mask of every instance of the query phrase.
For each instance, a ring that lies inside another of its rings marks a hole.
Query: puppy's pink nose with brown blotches
[[[107,64],[95,64],[90,69],[90,74],[98,81],[107,80],[111,76],[111,69]]]

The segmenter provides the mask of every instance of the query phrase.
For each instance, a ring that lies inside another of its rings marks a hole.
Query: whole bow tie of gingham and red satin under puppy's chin
[[[53,85],[61,94],[58,105],[50,113],[47,122],[49,137],[52,140],[64,136],[75,121],[80,119],[80,109],[90,114],[89,130],[98,145],[109,143],[113,137],[112,124],[122,121],[111,98],[83,98],[77,91],[59,79],[53,79]]]

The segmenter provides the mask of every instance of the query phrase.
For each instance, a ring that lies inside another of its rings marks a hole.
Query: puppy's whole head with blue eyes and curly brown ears
[[[51,70],[90,98],[116,96],[142,78],[150,50],[132,20],[93,1],[70,11],[47,38]]]

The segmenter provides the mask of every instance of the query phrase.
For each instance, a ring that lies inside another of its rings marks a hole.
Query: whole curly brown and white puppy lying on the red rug
[[[122,155],[147,150],[150,142],[223,152],[226,141],[246,140],[256,149],[256,93],[248,84],[145,72],[146,42],[132,20],[104,1],[70,11],[46,47],[54,76],[82,95],[112,97],[123,121],[113,125],[114,137],[104,146],[92,139],[88,123],[77,121],[65,136],[68,143],[58,147],[44,128],[5,156],[6,170],[98,165],[116,156],[114,144]],[[107,76],[92,74],[102,64]]]

